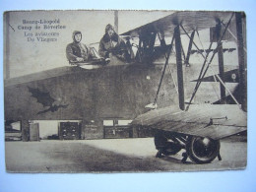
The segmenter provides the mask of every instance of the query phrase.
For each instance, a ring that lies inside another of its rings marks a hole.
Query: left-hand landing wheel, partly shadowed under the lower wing
[[[154,141],[156,149],[160,150],[161,154],[165,156],[175,155],[182,149],[180,145],[174,143],[171,139],[168,139],[162,132],[155,135]]]

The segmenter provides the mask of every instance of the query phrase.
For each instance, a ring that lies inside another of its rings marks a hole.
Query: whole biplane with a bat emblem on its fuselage
[[[95,61],[7,79],[5,119],[22,121],[24,130],[29,120],[80,120],[80,139],[105,138],[104,119],[132,119],[133,129],[154,130],[157,158],[184,149],[182,161],[221,160],[220,140],[247,130],[244,20],[240,12],[175,12],[120,34],[129,61],[111,54],[105,63],[94,49]],[[195,42],[205,29],[208,48]],[[227,33],[235,47],[223,47]],[[224,64],[224,51],[235,49],[238,67]],[[202,63],[191,62],[193,54]],[[92,122],[94,133],[87,130]]]

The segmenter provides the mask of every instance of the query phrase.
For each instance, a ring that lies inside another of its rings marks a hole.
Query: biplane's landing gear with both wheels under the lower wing
[[[156,158],[162,158],[162,155],[175,155],[181,149],[185,149],[186,152],[182,154],[183,159],[181,160],[183,163],[187,158],[199,164],[209,163],[217,157],[222,160],[220,140],[207,137],[181,136],[159,131],[155,135],[155,145],[158,150]]]

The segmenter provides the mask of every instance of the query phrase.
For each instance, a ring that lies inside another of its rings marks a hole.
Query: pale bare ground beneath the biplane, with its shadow
[[[223,160],[208,164],[182,163],[182,151],[157,159],[154,138],[6,142],[5,148],[9,172],[223,170],[244,168],[247,161],[246,139],[233,137],[221,141]]]

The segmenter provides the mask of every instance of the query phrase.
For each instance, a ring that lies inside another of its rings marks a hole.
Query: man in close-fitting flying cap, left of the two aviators
[[[73,42],[66,47],[66,56],[70,63],[88,61],[92,57],[90,49],[81,42],[82,32],[73,32]]]

